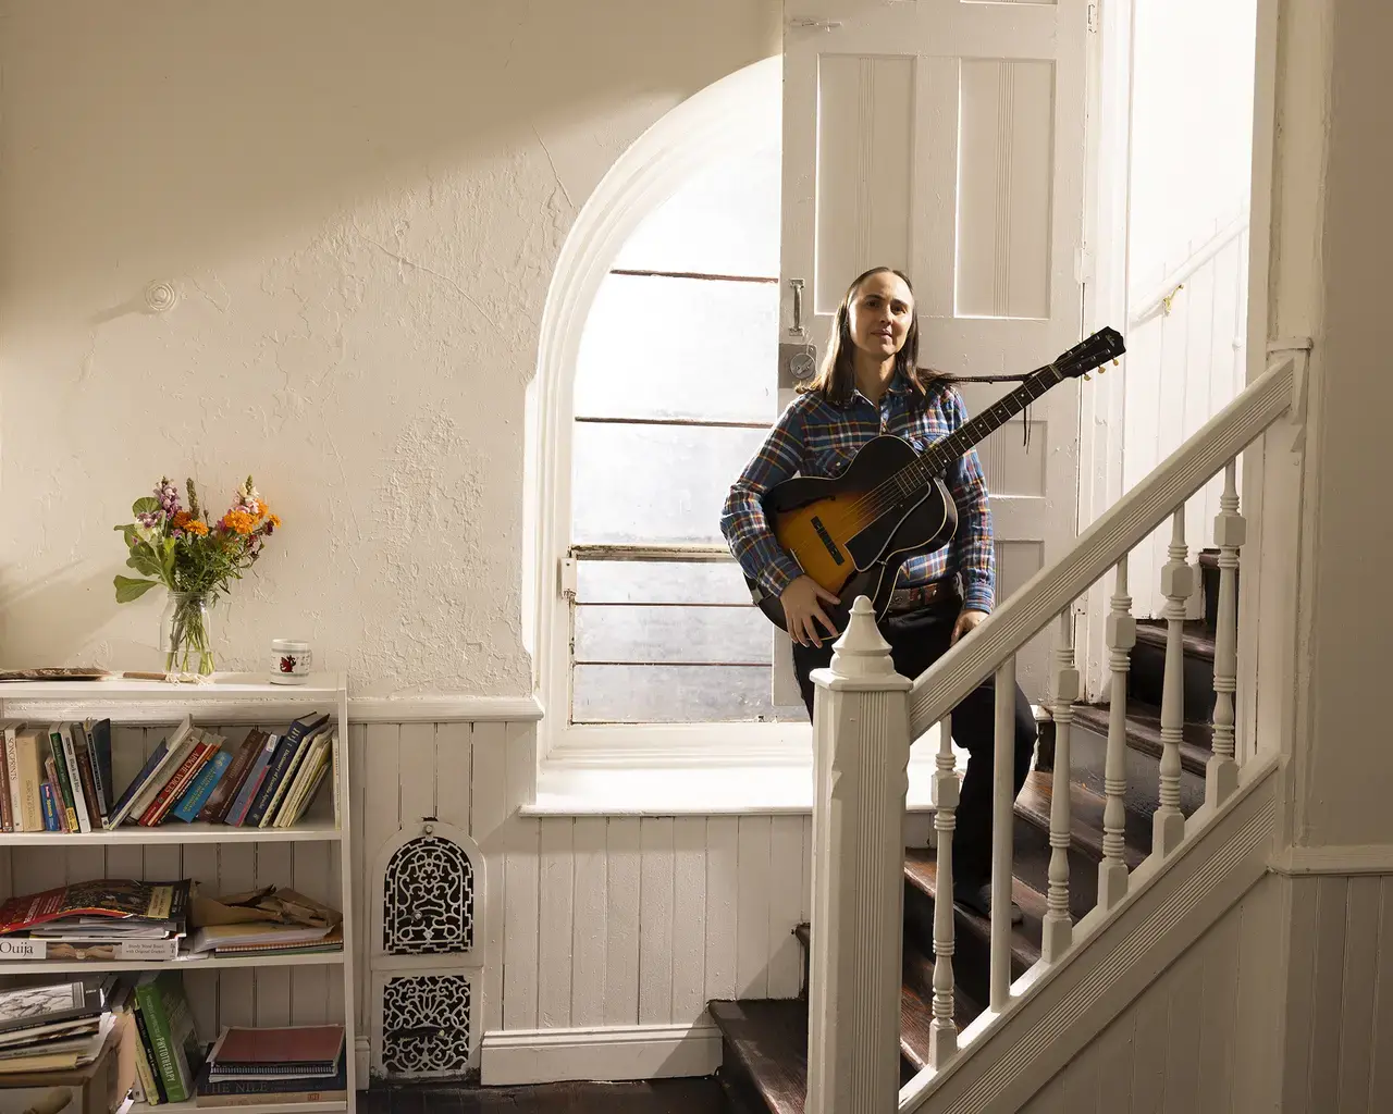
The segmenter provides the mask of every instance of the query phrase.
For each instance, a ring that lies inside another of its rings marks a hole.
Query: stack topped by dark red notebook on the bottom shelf
[[[198,1106],[348,1097],[343,1025],[223,1029],[198,1078]]]

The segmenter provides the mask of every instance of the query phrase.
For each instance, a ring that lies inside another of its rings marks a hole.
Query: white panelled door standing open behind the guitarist
[[[780,341],[820,355],[847,284],[883,265],[914,283],[926,366],[1024,373],[1074,344],[1087,0],[787,0],[784,14]],[[964,384],[970,412],[1010,386]],[[1031,408],[1028,448],[1020,419],[979,446],[997,602],[1077,535],[1078,389]],[[1018,661],[1032,700],[1052,636]]]

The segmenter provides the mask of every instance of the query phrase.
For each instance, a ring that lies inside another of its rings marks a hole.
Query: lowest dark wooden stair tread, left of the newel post
[[[706,1010],[770,1114],[802,1114],[808,1096],[808,1003],[713,1001]]]

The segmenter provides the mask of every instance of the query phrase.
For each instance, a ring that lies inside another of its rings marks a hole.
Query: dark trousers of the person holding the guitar
[[[956,602],[892,615],[880,622],[880,634],[890,643],[896,673],[915,678],[937,661],[949,649],[953,624],[957,621]],[[793,664],[798,675],[802,700],[812,716],[812,693],[816,688],[808,678],[814,670],[832,661],[832,642],[822,649],[793,646]],[[953,880],[957,884],[981,884],[992,876],[992,766],[993,734],[996,731],[996,685],[988,677],[953,709],[953,739],[968,752],[967,773],[953,831]],[[1015,778],[1014,791],[1021,791],[1035,752],[1035,713],[1029,700],[1015,687]]]

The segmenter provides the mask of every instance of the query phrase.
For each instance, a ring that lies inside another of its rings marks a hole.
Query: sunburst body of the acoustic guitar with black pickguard
[[[798,476],[765,494],[779,544],[839,597],[823,607],[837,631],[846,629],[857,596],[869,597],[876,618],[883,617],[905,558],[940,549],[957,531],[957,504],[942,479],[900,493],[894,478],[914,462],[908,441],[882,436],[836,479]],[[787,629],[777,597],[762,596],[758,606]]]

